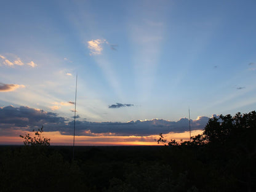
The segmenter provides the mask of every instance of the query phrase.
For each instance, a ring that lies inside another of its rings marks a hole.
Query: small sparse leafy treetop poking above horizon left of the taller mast
[[[50,138],[42,137],[42,130],[44,127],[42,126],[39,128],[35,133],[34,137],[31,137],[30,134],[26,134],[25,136],[20,135],[20,137],[24,138],[24,145],[31,145],[31,146],[49,146],[50,145]],[[34,132],[34,129],[33,129]]]

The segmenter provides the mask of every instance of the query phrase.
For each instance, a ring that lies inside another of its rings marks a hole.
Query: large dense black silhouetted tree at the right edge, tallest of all
[[[247,191],[255,190],[256,174],[256,112],[235,116],[227,114],[209,119],[202,138],[218,162],[226,164],[225,171],[236,178]],[[234,171],[235,170],[235,171]]]

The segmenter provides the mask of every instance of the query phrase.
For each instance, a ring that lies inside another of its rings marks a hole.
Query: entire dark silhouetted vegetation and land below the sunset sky
[[[75,161],[47,139],[1,146],[0,191],[256,191],[255,111],[209,119],[191,142],[159,135],[166,145],[76,146]]]

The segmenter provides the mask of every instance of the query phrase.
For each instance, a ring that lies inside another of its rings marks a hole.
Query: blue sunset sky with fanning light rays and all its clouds
[[[156,145],[256,109],[255,1],[1,1],[0,144]]]

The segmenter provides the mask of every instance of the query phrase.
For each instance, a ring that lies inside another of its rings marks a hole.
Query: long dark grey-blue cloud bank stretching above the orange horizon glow
[[[202,130],[209,118],[199,116],[191,119],[191,130]],[[151,119],[129,122],[89,122],[76,121],[76,135],[84,136],[148,136],[170,132],[182,133],[189,130],[188,119],[167,121]],[[31,131],[44,126],[46,132],[59,131],[62,135],[73,135],[74,121],[58,116],[57,113],[47,112],[28,106],[0,107],[0,135],[16,135],[16,131]]]

